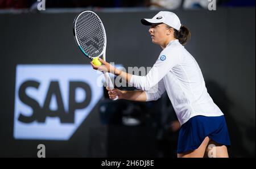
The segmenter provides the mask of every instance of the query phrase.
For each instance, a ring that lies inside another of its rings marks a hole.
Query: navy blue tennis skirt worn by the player
[[[224,115],[217,117],[194,116],[181,125],[177,153],[196,150],[207,136],[221,145],[230,146]]]

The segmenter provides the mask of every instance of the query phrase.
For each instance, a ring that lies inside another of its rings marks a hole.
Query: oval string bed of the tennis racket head
[[[105,32],[100,19],[92,12],[84,12],[77,18],[75,29],[81,48],[90,57],[100,56],[105,46]]]

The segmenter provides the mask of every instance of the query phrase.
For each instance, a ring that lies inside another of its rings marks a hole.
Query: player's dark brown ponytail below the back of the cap
[[[180,27],[180,31],[177,31],[176,29],[174,29],[174,37],[176,39],[179,39],[180,44],[184,46],[190,40],[191,33],[187,27],[182,25]]]

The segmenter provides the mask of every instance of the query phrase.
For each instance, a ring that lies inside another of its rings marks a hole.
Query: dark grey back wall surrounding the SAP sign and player
[[[69,141],[14,139],[16,65],[89,63],[73,39],[78,12],[0,15],[0,157],[36,157],[39,143],[46,145],[47,157],[173,157],[177,135],[163,130],[166,113],[173,114],[166,97],[150,103],[102,98]],[[108,61],[125,67],[154,64],[161,48],[151,43],[148,27],[140,20],[158,11],[96,12],[106,29]],[[230,157],[255,157],[255,7],[174,12],[190,29],[192,39],[185,48],[199,63],[208,92],[226,115]],[[102,122],[102,104],[109,106],[108,118],[117,119]],[[133,113],[143,119],[142,125],[120,122],[117,112],[130,106],[137,107]]]

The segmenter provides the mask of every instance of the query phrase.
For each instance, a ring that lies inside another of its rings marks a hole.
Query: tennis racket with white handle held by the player
[[[75,41],[82,53],[91,60],[102,56],[106,61],[106,32],[101,19],[93,11],[83,11],[76,16],[73,22]],[[104,72],[104,78],[110,90],[114,85],[108,72]],[[118,96],[114,99],[117,100]]]

